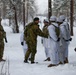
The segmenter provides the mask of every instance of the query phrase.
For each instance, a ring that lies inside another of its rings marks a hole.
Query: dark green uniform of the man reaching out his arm
[[[47,34],[44,34],[40,28],[39,25],[35,24],[34,22],[28,24],[29,29],[27,30],[27,27],[24,31],[24,39],[28,45],[28,50],[25,54],[25,60],[28,59],[30,53],[31,53],[31,62],[34,62],[35,54],[36,54],[36,46],[37,46],[37,36],[42,37],[48,37]]]

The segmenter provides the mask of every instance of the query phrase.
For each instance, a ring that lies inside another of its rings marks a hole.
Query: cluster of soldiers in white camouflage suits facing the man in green
[[[47,28],[49,34],[48,39],[43,38],[46,60],[50,57],[51,62],[48,67],[68,63],[68,46],[72,38],[70,36],[69,24],[65,19],[64,15],[58,18],[51,16],[50,25],[48,20],[46,20],[47,25],[44,22],[44,28]]]

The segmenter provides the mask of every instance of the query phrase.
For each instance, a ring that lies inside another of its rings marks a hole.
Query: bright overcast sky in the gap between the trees
[[[36,0],[38,6],[38,13],[44,13],[48,8],[48,0]]]

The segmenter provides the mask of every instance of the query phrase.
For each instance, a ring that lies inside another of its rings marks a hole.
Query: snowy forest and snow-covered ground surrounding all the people
[[[69,63],[48,68],[50,62],[44,62],[46,54],[40,36],[37,37],[35,58],[38,63],[24,63],[20,36],[25,26],[39,17],[42,30],[44,19],[49,21],[50,16],[59,17],[63,14],[73,31],[68,51]],[[0,62],[0,75],[76,75],[76,0],[0,0],[0,18],[7,38],[3,55],[6,62]]]

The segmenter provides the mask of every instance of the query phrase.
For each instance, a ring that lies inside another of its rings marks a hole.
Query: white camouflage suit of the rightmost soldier
[[[62,62],[64,60],[66,60],[66,58],[68,58],[68,45],[69,45],[69,39],[71,38],[70,36],[70,30],[69,30],[69,24],[64,21],[61,25],[60,25],[60,32],[61,32],[61,42],[62,42],[62,54],[63,57],[61,60]]]

